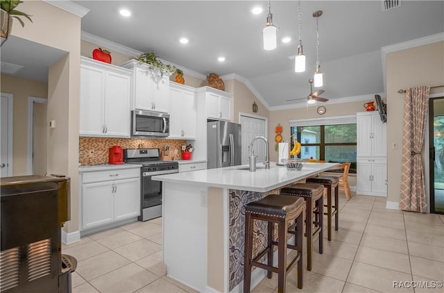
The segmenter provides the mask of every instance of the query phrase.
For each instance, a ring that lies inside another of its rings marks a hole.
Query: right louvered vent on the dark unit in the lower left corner
[[[51,274],[51,239],[28,244],[28,282]]]

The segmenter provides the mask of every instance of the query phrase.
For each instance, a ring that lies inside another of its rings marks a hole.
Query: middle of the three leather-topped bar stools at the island
[[[318,184],[298,183],[280,190],[281,194],[300,196],[305,199],[305,236],[307,237],[307,269],[311,271],[313,236],[319,233],[319,253],[323,253],[323,192]],[[315,216],[313,220],[313,215]],[[313,224],[316,227],[313,230]]]

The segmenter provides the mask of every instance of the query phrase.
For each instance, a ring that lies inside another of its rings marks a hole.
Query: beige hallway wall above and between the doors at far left
[[[28,174],[28,97],[46,99],[48,84],[1,74],[1,92],[13,94],[12,176]]]

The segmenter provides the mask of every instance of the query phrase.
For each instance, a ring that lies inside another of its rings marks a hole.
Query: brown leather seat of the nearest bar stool
[[[245,210],[262,215],[285,217],[287,214],[298,210],[304,204],[304,199],[298,199],[295,202],[294,197],[290,195],[269,194],[264,199],[248,203],[245,206]]]

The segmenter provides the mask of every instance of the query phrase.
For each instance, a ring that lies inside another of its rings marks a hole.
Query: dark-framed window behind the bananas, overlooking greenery
[[[351,162],[350,173],[356,173],[356,131],[356,123],[291,127],[291,134],[303,149],[300,158]]]

